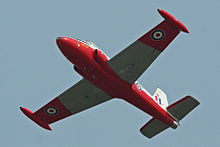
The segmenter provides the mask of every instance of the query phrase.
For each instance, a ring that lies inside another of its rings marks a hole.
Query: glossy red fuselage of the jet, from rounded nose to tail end
[[[83,41],[58,37],[57,45],[63,55],[74,65],[74,69],[85,79],[105,91],[113,98],[121,98],[138,107],[149,115],[173,126],[174,118],[159,106],[137,82],[133,85],[121,79],[108,66],[107,61],[95,58],[97,47],[92,47]]]

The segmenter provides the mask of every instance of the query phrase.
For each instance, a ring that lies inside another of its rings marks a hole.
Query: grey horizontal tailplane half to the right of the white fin
[[[191,96],[186,96],[181,100],[171,104],[167,107],[167,110],[178,120],[185,117],[190,111],[192,111],[200,103]]]

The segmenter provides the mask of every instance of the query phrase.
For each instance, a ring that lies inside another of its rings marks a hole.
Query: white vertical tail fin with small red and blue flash
[[[167,95],[160,88],[157,88],[153,98],[162,108],[165,109],[168,106]]]

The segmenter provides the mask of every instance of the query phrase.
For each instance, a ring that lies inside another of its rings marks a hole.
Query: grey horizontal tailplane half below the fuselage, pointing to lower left
[[[169,128],[168,125],[164,124],[156,118],[152,118],[140,129],[140,131],[147,138],[152,138],[167,128]]]

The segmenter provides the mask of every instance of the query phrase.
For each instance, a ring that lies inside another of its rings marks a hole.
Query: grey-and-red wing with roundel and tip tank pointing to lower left
[[[21,110],[35,123],[51,130],[49,124],[110,99],[112,97],[104,91],[95,87],[86,79],[82,79],[36,112],[33,113],[23,107],[21,107]]]

